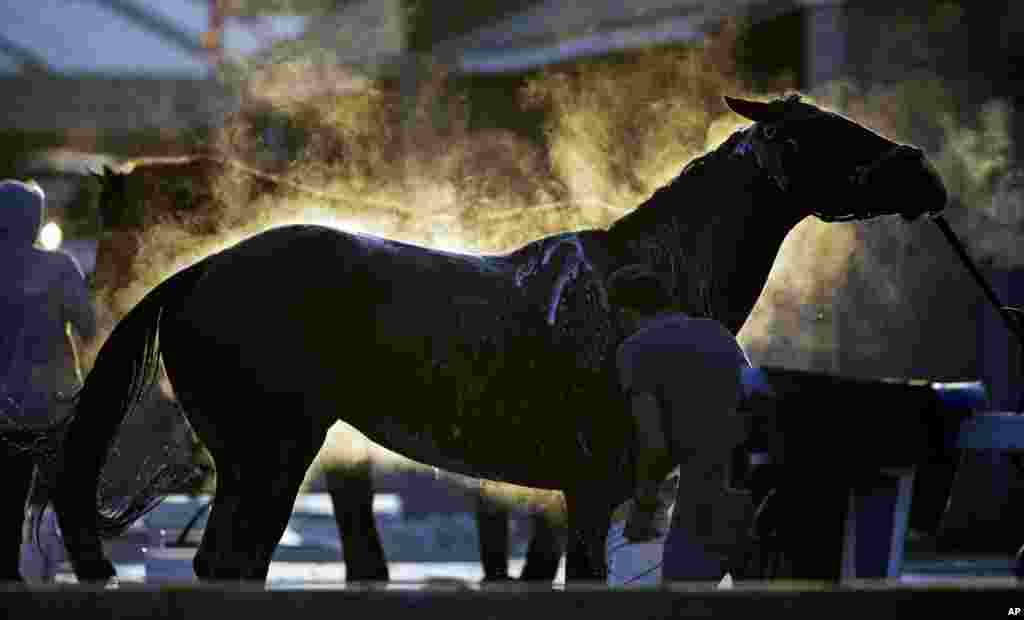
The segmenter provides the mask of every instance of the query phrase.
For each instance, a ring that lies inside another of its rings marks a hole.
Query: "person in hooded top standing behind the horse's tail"
[[[81,268],[68,254],[35,246],[45,201],[34,182],[0,181],[0,429],[55,421],[57,394],[73,392],[78,384],[68,325],[85,340],[96,332]],[[22,525],[35,462],[3,442],[0,457],[5,481],[0,579],[19,580],[19,550],[29,548],[22,545]]]

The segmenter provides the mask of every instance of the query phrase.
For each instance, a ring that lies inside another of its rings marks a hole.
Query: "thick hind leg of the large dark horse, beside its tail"
[[[304,439],[242,435],[236,450],[211,448],[217,495],[194,561],[204,580],[265,581],[270,557],[324,433]]]

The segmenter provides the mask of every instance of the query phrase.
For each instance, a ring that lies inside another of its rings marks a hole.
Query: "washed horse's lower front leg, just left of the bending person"
[[[605,541],[611,525],[611,503],[593,490],[565,492],[568,512],[568,541],[565,554],[565,582],[608,581]]]

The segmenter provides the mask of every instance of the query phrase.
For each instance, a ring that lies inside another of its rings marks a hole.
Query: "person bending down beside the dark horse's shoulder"
[[[736,407],[750,363],[721,323],[675,309],[668,283],[645,266],[620,270],[608,288],[633,332],[616,354],[636,433],[636,488],[624,536],[644,542],[664,534],[658,491],[678,465],[663,580],[717,581],[752,515],[749,500],[726,491],[731,450],[743,440]]]

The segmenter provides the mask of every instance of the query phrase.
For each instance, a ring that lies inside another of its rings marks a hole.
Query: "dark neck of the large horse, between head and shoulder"
[[[743,172],[684,174],[638,207],[651,211],[609,231],[614,263],[644,262],[671,275],[684,313],[716,319],[733,333],[801,218],[773,187]]]

